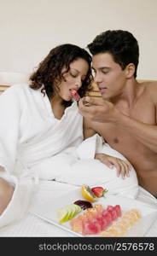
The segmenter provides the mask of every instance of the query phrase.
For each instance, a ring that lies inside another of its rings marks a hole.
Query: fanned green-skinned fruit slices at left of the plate
[[[70,204],[67,207],[62,207],[58,212],[58,222],[63,223],[73,218],[78,212],[81,212],[81,207],[76,204]]]

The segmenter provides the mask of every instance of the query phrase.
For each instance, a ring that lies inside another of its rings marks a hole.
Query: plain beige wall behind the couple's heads
[[[0,72],[30,73],[55,45],[108,29],[135,35],[137,79],[157,79],[157,0],[0,0]]]

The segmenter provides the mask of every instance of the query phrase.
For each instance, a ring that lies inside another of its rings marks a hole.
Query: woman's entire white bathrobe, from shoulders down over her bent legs
[[[123,180],[99,160],[96,152],[125,158],[95,135],[83,142],[83,117],[77,103],[55,119],[49,99],[27,84],[16,84],[0,96],[0,176],[15,185],[0,227],[23,218],[38,193],[41,181],[67,185],[103,185],[113,194],[134,198],[137,175]],[[103,146],[102,146],[103,145]],[[54,182],[53,182],[54,180]],[[53,190],[53,189],[52,189]],[[46,195],[45,195],[46,196]]]

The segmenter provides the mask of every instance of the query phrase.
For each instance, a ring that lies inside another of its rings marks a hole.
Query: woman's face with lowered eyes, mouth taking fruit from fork
[[[82,86],[88,70],[88,62],[84,59],[79,58],[71,62],[69,71],[63,74],[64,79],[59,84],[57,95],[64,101],[70,101],[72,99],[71,90],[78,90]],[[62,73],[65,71],[66,68],[63,68]]]

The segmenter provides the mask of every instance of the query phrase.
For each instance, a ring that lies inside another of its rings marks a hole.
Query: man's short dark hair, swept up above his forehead
[[[137,39],[131,32],[123,30],[108,30],[97,35],[91,44],[87,45],[92,55],[108,52],[122,70],[129,63],[135,65],[134,77],[137,77],[139,47]]]

